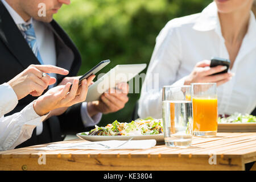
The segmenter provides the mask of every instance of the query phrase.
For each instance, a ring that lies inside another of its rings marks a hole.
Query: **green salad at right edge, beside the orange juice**
[[[234,113],[226,118],[218,118],[218,123],[251,123],[256,122],[256,117],[249,114]]]

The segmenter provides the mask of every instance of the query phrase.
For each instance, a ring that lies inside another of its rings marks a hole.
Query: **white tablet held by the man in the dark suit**
[[[88,88],[88,93],[86,96],[86,102],[98,101],[100,96],[109,88],[114,88],[120,82],[127,82],[133,77],[138,75],[143,69],[145,69],[147,64],[121,64],[116,65],[114,68],[110,69],[108,73],[98,78],[94,84],[90,85]]]

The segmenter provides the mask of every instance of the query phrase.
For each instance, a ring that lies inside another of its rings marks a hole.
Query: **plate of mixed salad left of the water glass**
[[[155,139],[156,142],[164,142],[162,119],[148,117],[136,119],[130,123],[118,122],[108,124],[105,127],[95,125],[95,129],[89,132],[76,134],[77,137],[92,142],[104,140],[146,140]]]

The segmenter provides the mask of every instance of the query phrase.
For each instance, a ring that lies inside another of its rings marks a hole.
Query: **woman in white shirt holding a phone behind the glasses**
[[[162,87],[216,82],[218,113],[251,113],[256,106],[256,22],[253,0],[215,0],[201,13],[170,20],[156,38],[138,114],[162,118]],[[231,61],[209,68],[210,58]],[[155,79],[154,79],[155,78]]]

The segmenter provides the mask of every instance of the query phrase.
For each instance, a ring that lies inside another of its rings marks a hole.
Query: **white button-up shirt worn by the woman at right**
[[[197,62],[213,56],[229,59],[215,2],[199,14],[170,20],[156,38],[139,98],[139,116],[162,118],[162,87],[183,85],[185,76]],[[218,114],[253,111],[256,106],[255,68],[256,22],[251,12],[248,31],[229,70],[235,76],[217,87]],[[151,79],[154,74],[159,80]]]

